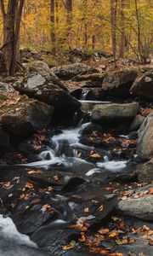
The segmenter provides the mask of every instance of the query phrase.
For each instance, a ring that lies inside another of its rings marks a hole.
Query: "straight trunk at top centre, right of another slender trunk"
[[[66,23],[67,23],[67,40],[69,49],[71,49],[71,20],[72,20],[72,0],[65,1],[65,8],[67,12]]]

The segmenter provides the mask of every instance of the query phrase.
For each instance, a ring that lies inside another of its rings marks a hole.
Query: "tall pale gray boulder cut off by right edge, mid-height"
[[[137,154],[144,160],[150,160],[153,157],[153,113],[148,115],[139,128]]]

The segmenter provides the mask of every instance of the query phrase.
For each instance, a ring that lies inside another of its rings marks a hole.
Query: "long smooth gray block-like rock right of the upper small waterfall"
[[[121,121],[133,119],[139,110],[139,103],[126,104],[98,104],[94,106],[92,119],[94,122],[104,123],[105,121]]]

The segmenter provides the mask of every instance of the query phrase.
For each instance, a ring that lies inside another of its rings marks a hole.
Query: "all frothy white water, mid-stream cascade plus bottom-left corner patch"
[[[84,97],[84,96],[83,96]],[[88,102],[90,104],[90,102]],[[83,121],[83,120],[82,120]],[[88,145],[84,145],[80,142],[80,138],[82,136],[82,130],[88,125],[88,123],[83,124],[82,121],[77,125],[77,127],[71,127],[70,129],[64,129],[59,131],[59,134],[50,137],[50,147],[48,147],[45,151],[42,151],[39,154],[39,160],[31,163],[27,163],[22,166],[39,166],[48,169],[50,166],[68,166],[71,167],[71,172],[75,166],[82,166],[81,172],[86,169],[84,166],[89,166],[87,172],[84,173],[85,177],[91,177],[94,173],[104,172],[104,170],[109,172],[121,172],[127,166],[127,160],[112,160],[110,159],[110,153],[104,151],[102,160],[98,160],[94,162],[94,164],[87,159],[84,160],[79,157],[79,153],[81,151],[87,151],[90,153],[91,151],[96,150],[96,148]],[[79,177],[79,176],[78,176]],[[5,247],[6,242],[11,247],[17,247],[14,249],[10,248],[11,256],[15,255],[46,255],[42,253],[34,253],[31,252],[29,254],[22,253],[19,247],[31,247],[31,250],[37,248],[37,245],[32,242],[28,236],[21,235],[15,228],[13,221],[10,218],[3,218],[0,215],[0,230],[1,230],[1,245],[2,249],[0,249],[0,253],[3,250],[3,246]],[[22,248],[25,250],[24,248]],[[18,252],[18,253],[17,253]],[[27,252],[27,248],[26,248]],[[2,254],[8,255],[8,254]]]

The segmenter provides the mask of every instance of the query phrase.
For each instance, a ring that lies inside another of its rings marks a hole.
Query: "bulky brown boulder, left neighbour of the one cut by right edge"
[[[138,77],[136,70],[122,70],[105,76],[102,89],[110,96],[130,96],[130,88]]]

